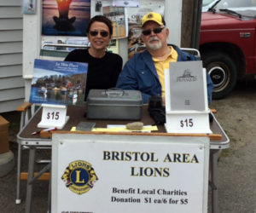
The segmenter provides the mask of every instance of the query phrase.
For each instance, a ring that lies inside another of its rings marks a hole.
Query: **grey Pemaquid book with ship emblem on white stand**
[[[170,63],[171,110],[204,111],[205,90],[201,60]]]

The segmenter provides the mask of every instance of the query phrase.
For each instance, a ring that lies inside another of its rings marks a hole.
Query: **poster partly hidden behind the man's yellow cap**
[[[144,45],[141,39],[141,20],[144,14],[149,12],[156,12],[164,15],[165,12],[165,1],[164,0],[153,0],[153,1],[140,1],[139,8],[128,8],[128,58],[140,51],[143,51]]]

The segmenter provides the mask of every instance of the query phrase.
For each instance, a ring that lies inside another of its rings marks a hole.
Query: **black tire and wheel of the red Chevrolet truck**
[[[203,66],[207,69],[214,84],[212,99],[218,100],[229,95],[236,85],[235,61],[230,55],[222,52],[211,52],[201,56]]]

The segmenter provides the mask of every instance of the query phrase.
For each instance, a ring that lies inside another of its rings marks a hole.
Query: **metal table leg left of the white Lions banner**
[[[35,156],[36,156],[36,148],[30,147],[29,148],[29,159],[28,159],[28,176],[27,176],[27,183],[26,183],[26,213],[31,213],[32,207],[32,181],[34,176],[34,164],[35,164]]]

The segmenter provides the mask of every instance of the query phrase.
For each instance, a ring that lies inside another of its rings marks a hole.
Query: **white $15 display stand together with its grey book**
[[[201,60],[170,63],[166,79],[166,131],[212,133],[207,76]]]

